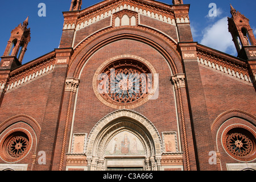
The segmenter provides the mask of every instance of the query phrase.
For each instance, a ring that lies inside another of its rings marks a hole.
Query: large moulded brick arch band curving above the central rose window
[[[122,39],[132,39],[148,44],[163,55],[173,75],[183,73],[181,57],[174,40],[148,27],[122,26],[96,32],[76,46],[69,63],[68,77],[79,78],[83,65],[94,52]]]

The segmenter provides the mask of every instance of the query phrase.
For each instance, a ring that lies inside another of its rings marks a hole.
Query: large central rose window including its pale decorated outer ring
[[[115,109],[131,109],[144,104],[154,95],[158,80],[155,69],[141,58],[114,57],[96,71],[93,89],[99,100]]]

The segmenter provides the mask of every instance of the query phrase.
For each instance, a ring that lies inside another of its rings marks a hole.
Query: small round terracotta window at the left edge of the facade
[[[15,162],[22,159],[30,150],[31,141],[23,131],[14,131],[3,138],[1,156],[4,160]]]

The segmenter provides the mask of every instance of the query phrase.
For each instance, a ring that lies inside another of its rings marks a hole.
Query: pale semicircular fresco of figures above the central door
[[[138,137],[123,131],[110,140],[105,155],[143,155],[144,153],[143,145]]]

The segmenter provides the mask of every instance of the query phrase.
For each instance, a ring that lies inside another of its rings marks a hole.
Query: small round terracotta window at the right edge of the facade
[[[243,161],[255,159],[255,135],[249,130],[234,127],[226,130],[222,142],[233,158]]]

